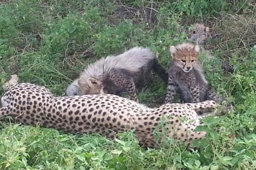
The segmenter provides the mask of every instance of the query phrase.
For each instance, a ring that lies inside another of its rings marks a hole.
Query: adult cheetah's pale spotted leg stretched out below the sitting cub
[[[206,100],[199,103],[184,103],[185,105],[188,105],[195,111],[204,111],[207,109],[215,109],[217,108],[217,103],[213,100]]]

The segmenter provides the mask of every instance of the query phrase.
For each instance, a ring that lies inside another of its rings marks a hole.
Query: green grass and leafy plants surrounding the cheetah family
[[[109,140],[1,122],[0,169],[256,169],[255,2],[249,1],[47,1],[13,0],[0,7],[0,93],[9,75],[65,95],[89,63],[135,45],[157,53],[168,69],[170,45],[184,42],[194,22],[222,33],[209,41],[216,58],[201,56],[211,86],[235,109],[205,118],[207,138],[187,150],[167,139],[161,148],[139,147],[133,133]],[[242,28],[242,29],[241,29]],[[229,59],[233,74],[221,70]],[[166,86],[155,76],[139,94],[163,102]]]

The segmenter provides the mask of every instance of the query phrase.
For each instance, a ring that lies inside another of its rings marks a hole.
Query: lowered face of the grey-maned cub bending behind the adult
[[[104,86],[98,79],[88,78],[87,80],[79,79],[78,84],[82,95],[99,95],[106,94]]]

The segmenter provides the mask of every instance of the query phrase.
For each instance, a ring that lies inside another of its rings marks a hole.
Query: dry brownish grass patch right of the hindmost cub
[[[230,57],[230,54],[243,56],[250,48],[256,45],[256,17],[244,15],[224,14],[215,18],[213,31],[217,33],[219,42],[209,49],[221,49]]]

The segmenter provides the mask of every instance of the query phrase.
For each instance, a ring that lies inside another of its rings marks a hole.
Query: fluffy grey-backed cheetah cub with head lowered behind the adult
[[[155,53],[147,48],[134,47],[89,65],[67,88],[67,95],[121,95],[128,92],[131,100],[138,101],[136,92],[152,82],[153,70],[165,82],[168,81],[168,73],[158,64]]]

